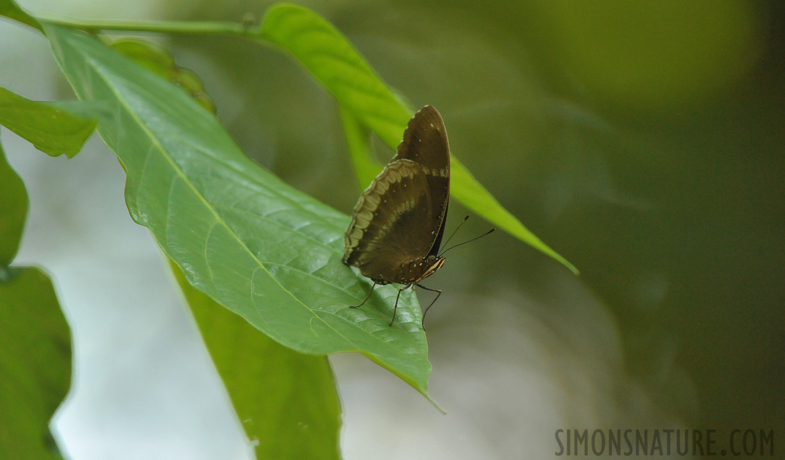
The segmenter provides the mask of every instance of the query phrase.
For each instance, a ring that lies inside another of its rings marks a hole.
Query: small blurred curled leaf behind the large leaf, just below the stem
[[[175,64],[172,54],[162,46],[138,38],[121,38],[111,42],[109,46],[155,75],[180,86],[199,105],[215,113],[215,103],[205,91],[199,76],[190,69]]]

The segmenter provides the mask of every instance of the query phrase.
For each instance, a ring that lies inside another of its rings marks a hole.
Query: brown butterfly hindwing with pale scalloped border
[[[390,162],[360,195],[346,231],[344,263],[374,280],[404,282],[400,265],[428,254],[433,214],[428,181],[416,162]]]

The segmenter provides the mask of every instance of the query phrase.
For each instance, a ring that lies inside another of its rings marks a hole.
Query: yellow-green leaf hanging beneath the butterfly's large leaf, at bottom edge
[[[257,458],[340,458],[341,403],[327,356],[279,345],[172,265]]]

